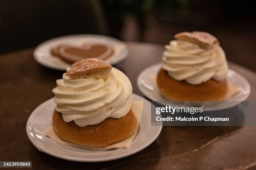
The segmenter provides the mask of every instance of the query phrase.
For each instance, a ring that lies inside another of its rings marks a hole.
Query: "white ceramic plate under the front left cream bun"
[[[51,118],[55,108],[54,98],[42,103],[31,113],[26,126],[28,138],[41,152],[65,160],[101,162],[132,155],[154,142],[162,129],[162,126],[151,126],[151,103],[135,94],[133,94],[133,100],[143,100],[144,107],[138,132],[129,148],[95,150],[56,143],[44,135],[46,129],[51,125]]]

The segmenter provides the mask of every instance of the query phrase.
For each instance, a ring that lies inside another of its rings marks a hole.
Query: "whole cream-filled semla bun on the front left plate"
[[[131,82],[107,62],[95,58],[75,62],[56,83],[52,125],[60,138],[103,147],[136,130]]]

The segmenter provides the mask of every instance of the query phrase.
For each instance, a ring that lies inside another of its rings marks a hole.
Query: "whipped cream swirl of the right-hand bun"
[[[198,85],[211,78],[223,80],[227,75],[225,52],[218,44],[205,49],[190,42],[172,40],[165,48],[162,68],[175,80]]]

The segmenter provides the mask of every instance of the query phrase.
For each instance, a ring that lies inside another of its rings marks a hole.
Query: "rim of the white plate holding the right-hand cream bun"
[[[154,64],[154,65],[150,65],[150,66],[144,68],[144,69],[139,73],[139,75],[138,75],[138,77],[137,77],[136,84],[137,84],[137,86],[138,86],[138,89],[139,89],[140,92],[141,92],[144,96],[146,96],[149,100],[156,101],[156,100],[154,100],[152,97],[150,97],[147,93],[145,93],[144,90],[142,89],[143,87],[142,87],[142,85],[140,84],[140,81],[141,81],[141,79],[142,79],[142,75],[145,74],[145,72],[147,72],[148,70],[152,69],[152,67],[160,67],[162,64],[163,64],[162,62],[159,62],[159,63],[156,63],[156,64]],[[228,71],[234,72],[240,79],[242,79],[242,80],[246,83],[246,86],[248,87],[248,93],[246,94],[245,97],[243,97],[243,99],[242,99],[241,101],[246,100],[246,99],[249,97],[249,95],[251,94],[251,85],[250,85],[250,83],[248,82],[248,80],[246,80],[245,77],[243,77],[243,75],[241,75],[240,73],[236,72],[235,70],[229,68]],[[163,100],[163,101],[169,101],[169,100]],[[241,102],[241,101],[240,101],[240,102]],[[156,102],[157,102],[157,101],[156,101]],[[237,103],[237,104],[239,104],[239,103]],[[237,105],[237,104],[236,104],[236,105]],[[233,105],[233,106],[234,106],[234,105]],[[231,107],[233,107],[233,106],[231,106]],[[218,108],[216,109],[216,108],[215,108],[215,109],[209,109],[209,110],[206,110],[206,111],[223,110],[223,109],[227,109],[227,108],[230,108],[230,107],[225,107],[225,108],[223,107],[223,108],[220,108],[220,109],[218,109]]]

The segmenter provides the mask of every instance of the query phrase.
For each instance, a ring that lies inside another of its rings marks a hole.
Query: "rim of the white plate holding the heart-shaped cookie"
[[[122,43],[124,45],[124,49],[122,50],[122,52],[120,52],[120,55],[119,55],[119,57],[117,57],[116,60],[114,60],[114,61],[110,60],[111,65],[115,65],[115,64],[123,61],[128,56],[129,50],[128,50],[127,44],[125,42],[115,38],[115,37],[110,37],[110,36],[100,35],[100,34],[72,34],[72,35],[64,35],[64,36],[60,36],[60,37],[54,37],[54,38],[51,38],[51,39],[46,40],[44,42],[41,42],[33,50],[34,60],[36,60],[36,62],[38,62],[38,64],[43,65],[45,67],[48,67],[48,68],[51,68],[51,69],[54,69],[54,70],[65,71],[66,68],[64,68],[64,67],[54,67],[54,66],[50,65],[48,62],[41,62],[41,60],[39,59],[40,57],[38,57],[38,54],[37,54],[38,50],[40,50],[41,47],[44,47],[44,45],[46,45],[48,43],[51,43],[53,41],[58,41],[58,40],[61,40],[61,39],[64,39],[64,38],[77,38],[77,37],[107,38],[107,39],[110,39],[111,41]],[[69,64],[69,63],[67,62],[67,64]],[[70,66],[71,66],[71,64],[70,64]]]

